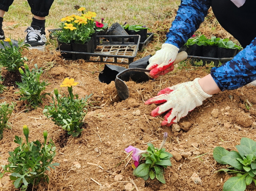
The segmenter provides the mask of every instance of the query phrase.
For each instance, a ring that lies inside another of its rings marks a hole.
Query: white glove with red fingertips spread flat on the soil
[[[194,79],[192,82],[184,82],[161,90],[157,96],[150,98],[145,104],[160,104],[154,109],[150,115],[153,117],[169,110],[164,116],[162,126],[171,126],[177,123],[180,118],[185,117],[187,113],[195,107],[203,104],[203,100],[211,97],[212,95],[206,94],[201,88],[198,80]]]

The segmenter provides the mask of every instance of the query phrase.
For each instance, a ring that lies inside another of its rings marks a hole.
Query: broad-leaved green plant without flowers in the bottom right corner
[[[227,151],[223,147],[215,147],[214,159],[220,164],[230,165],[227,169],[216,172],[234,173],[223,185],[223,191],[244,191],[252,181],[256,185],[256,142],[249,138],[241,138],[237,151]],[[215,173],[216,173],[215,172]]]

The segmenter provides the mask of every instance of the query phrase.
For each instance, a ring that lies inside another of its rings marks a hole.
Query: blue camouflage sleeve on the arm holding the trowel
[[[187,42],[207,16],[211,0],[181,0],[166,42],[180,48]]]

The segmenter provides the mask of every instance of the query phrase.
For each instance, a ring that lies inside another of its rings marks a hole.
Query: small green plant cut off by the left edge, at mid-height
[[[5,128],[11,129],[11,126],[9,126],[9,117],[12,115],[12,111],[15,107],[16,103],[7,103],[4,101],[0,104],[0,140],[3,139],[3,131]]]

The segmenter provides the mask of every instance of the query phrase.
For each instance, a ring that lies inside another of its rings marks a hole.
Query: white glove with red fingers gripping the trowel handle
[[[172,44],[164,43],[156,54],[149,58],[149,65],[146,69],[151,70],[149,72],[150,77],[158,78],[160,75],[164,75],[174,69],[173,62],[176,59],[179,48]]]

